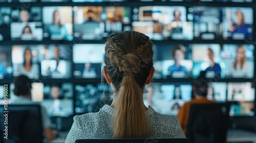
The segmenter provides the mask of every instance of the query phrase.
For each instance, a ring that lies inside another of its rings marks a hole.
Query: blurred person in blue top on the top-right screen
[[[252,29],[250,25],[246,25],[244,22],[244,14],[242,11],[236,12],[237,22],[232,23],[232,25],[228,28],[228,32],[231,32],[231,37],[234,34],[243,34],[244,38],[251,39],[252,38]]]

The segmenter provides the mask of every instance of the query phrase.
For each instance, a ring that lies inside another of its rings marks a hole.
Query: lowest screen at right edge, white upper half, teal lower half
[[[230,116],[253,116],[255,89],[254,84],[228,83],[227,100],[231,101]]]

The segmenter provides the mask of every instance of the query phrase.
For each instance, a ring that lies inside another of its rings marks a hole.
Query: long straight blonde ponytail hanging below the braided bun
[[[148,137],[142,94],[133,74],[125,73],[116,96],[114,138]]]

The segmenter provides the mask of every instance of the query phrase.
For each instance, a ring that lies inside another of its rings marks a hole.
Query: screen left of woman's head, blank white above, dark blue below
[[[75,78],[100,78],[104,65],[104,44],[75,44],[73,62]]]

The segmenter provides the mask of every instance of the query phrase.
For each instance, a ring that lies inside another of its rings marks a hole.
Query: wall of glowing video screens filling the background
[[[62,6],[57,6],[59,2]],[[33,5],[37,3],[41,4]],[[146,106],[177,115],[193,97],[191,81],[206,71],[214,81],[209,84],[209,100],[231,103],[230,116],[254,116],[252,0],[204,0],[201,3],[207,5],[199,8],[187,6],[199,4],[194,0],[127,3],[0,0],[5,4],[0,7],[0,92],[8,84],[10,100],[15,99],[12,80],[26,75],[34,81],[32,100],[41,102],[49,116],[97,112],[113,100],[111,87],[100,83],[104,41],[112,33],[134,30],[154,42],[156,72],[154,83],[145,88]],[[231,5],[221,5],[226,3]]]

